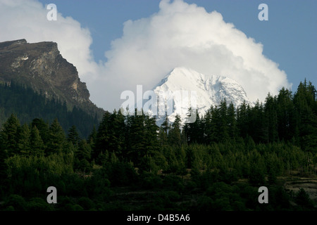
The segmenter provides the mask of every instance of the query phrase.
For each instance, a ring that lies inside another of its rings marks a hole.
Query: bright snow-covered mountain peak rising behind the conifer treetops
[[[244,101],[251,104],[242,86],[233,79],[204,75],[185,67],[172,70],[154,87],[154,92],[159,96],[157,106],[167,110],[168,120],[173,122],[178,114],[182,124],[188,117],[189,107],[197,109],[199,115],[204,115],[211,105],[219,105],[223,100],[228,104],[232,102],[235,107]],[[168,101],[170,96],[173,96],[173,101]],[[165,116],[159,114],[157,124],[160,125],[164,119]]]

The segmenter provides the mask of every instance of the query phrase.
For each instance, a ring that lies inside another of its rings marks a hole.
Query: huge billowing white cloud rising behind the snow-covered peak
[[[177,66],[235,79],[253,101],[290,86],[285,72],[263,56],[263,45],[225,23],[220,13],[183,1],[163,0],[159,8],[149,18],[127,21],[123,37],[106,52],[108,76],[124,80],[123,89],[151,89]]]

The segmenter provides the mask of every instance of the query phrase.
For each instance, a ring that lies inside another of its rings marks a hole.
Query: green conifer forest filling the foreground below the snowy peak
[[[185,127],[114,110],[82,139],[59,120],[19,120],[0,132],[2,210],[316,210],[303,188],[285,188],[316,181],[317,99],[306,81],[254,107],[223,101]],[[57,204],[46,203],[49,186]]]

